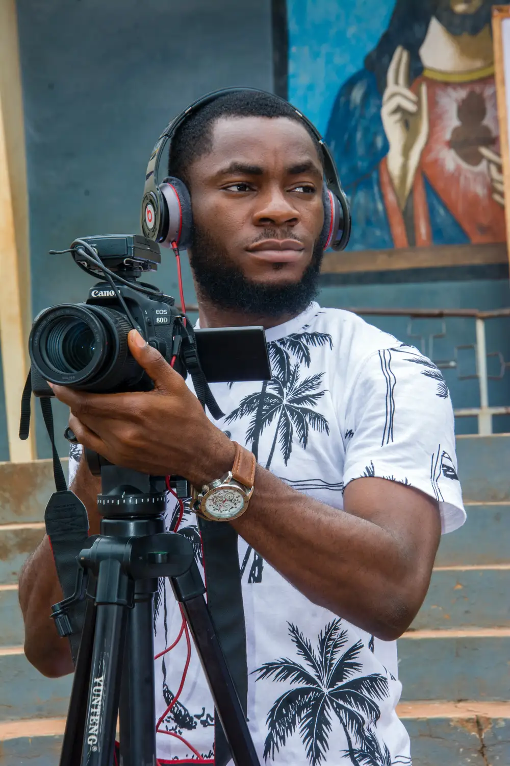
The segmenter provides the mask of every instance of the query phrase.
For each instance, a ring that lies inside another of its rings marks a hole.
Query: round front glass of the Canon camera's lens
[[[57,319],[47,331],[47,360],[60,372],[80,372],[93,360],[94,333],[82,319]]]

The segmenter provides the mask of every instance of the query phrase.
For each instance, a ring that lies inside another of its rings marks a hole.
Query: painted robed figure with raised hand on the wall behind
[[[326,141],[350,249],[505,241],[490,21],[488,0],[396,0],[340,88]]]

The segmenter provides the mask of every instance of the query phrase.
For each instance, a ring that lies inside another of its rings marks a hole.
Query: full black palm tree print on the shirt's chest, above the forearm
[[[274,375],[274,378],[268,381],[267,386],[262,386],[260,393],[246,396],[240,402],[239,407],[226,417],[226,422],[230,423],[240,417],[252,415],[248,430],[246,431],[246,444],[253,444],[256,439],[257,452],[258,437],[260,437],[262,430],[271,425],[274,420],[277,421],[271,450],[265,464],[266,468],[269,468],[271,465],[277,441],[279,441],[281,447],[284,463],[287,465],[291,457],[294,430],[305,450],[308,444],[310,426],[313,430],[326,431],[326,434],[330,433],[330,427],[326,418],[313,409],[317,401],[326,393],[324,389],[323,391],[317,391],[322,378],[323,372],[320,372],[317,375],[310,375],[308,378],[300,381],[299,364],[296,364],[291,368],[291,374],[286,383],[284,378],[280,378],[277,373],[277,375]],[[255,455],[255,457],[258,456]],[[241,576],[248,565],[251,552],[252,548],[249,546],[242,561]],[[249,582],[261,581],[262,568],[262,559],[258,554],[255,554]]]

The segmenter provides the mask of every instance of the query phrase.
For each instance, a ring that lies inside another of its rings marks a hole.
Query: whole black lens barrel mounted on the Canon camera
[[[50,383],[86,391],[128,390],[144,371],[128,350],[128,319],[106,306],[63,303],[32,326],[32,365]]]

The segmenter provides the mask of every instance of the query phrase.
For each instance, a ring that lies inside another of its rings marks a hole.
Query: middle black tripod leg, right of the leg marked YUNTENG
[[[155,721],[151,592],[135,594],[135,607],[128,615],[120,701],[120,766],[155,766]]]

